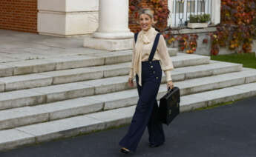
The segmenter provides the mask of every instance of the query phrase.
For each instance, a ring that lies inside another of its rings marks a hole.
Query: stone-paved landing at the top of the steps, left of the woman
[[[83,47],[84,38],[85,36],[60,38],[0,30],[0,63],[104,52]]]

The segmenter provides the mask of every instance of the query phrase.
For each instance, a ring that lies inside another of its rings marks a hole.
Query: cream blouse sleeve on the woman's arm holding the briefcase
[[[160,63],[161,63],[162,70],[165,72],[166,81],[171,81],[172,80],[171,70],[174,70],[174,65],[169,56],[163,35],[160,36],[159,43],[157,46],[157,51],[160,56]]]

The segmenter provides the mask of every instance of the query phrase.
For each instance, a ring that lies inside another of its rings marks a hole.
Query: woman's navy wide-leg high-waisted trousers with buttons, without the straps
[[[161,79],[162,69],[159,60],[142,61],[142,86],[138,84],[139,80],[136,75],[139,100],[128,132],[119,141],[121,147],[135,152],[145,127],[148,127],[150,144],[163,144],[165,142],[163,124],[157,116],[157,93]]]

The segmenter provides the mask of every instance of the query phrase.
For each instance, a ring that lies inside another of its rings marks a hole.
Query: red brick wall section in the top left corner
[[[37,32],[37,0],[0,0],[0,29]]]

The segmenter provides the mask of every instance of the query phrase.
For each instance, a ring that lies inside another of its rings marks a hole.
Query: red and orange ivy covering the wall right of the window
[[[222,0],[220,18],[217,32],[209,34],[211,54],[217,55],[220,47],[251,53],[256,39],[256,0]]]

